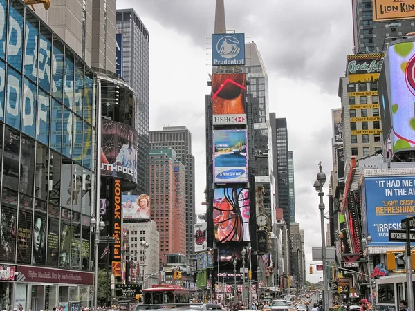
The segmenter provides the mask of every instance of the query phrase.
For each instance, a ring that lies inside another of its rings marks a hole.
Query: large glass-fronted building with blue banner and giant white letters
[[[0,0],[1,309],[91,305],[94,75],[19,0]]]

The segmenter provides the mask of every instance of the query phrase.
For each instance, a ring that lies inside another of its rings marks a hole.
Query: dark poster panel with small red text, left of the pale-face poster
[[[20,195],[17,226],[17,262],[30,263],[32,254],[33,198]]]

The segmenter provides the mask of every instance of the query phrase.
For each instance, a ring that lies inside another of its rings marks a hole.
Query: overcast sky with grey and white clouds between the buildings
[[[210,93],[215,1],[117,1],[117,8],[131,6],[150,32],[150,130],[187,126],[192,132],[196,211],[202,213],[205,94]],[[307,279],[320,281],[322,272],[308,275],[311,247],[321,245],[313,182],[318,162],[328,178],[332,170],[331,109],[340,107],[338,79],[353,48],[351,1],[225,0],[225,15],[228,30],[245,32],[246,41],[257,44],[268,72],[270,112],[287,119]]]

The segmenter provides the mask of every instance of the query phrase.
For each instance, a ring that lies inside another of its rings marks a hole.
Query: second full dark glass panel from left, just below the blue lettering
[[[20,191],[33,196],[35,178],[35,140],[21,136]]]

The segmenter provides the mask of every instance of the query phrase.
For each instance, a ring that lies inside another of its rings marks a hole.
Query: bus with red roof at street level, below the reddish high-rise
[[[182,288],[181,285],[163,284],[142,290],[142,296],[145,305],[189,304],[190,292],[188,288]]]

